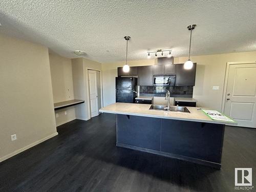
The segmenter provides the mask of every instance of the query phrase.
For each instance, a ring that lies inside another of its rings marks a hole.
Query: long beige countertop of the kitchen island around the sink
[[[237,123],[227,123],[223,121],[211,120],[207,115],[204,114],[201,108],[189,107],[186,108],[190,113],[183,112],[172,112],[172,111],[156,111],[149,110],[151,104],[137,104],[137,103],[113,103],[99,111],[103,113],[123,114],[123,115],[136,115],[143,117],[155,117],[164,119],[176,119],[184,121],[195,121],[205,123],[216,123],[216,124],[228,124],[236,125]]]

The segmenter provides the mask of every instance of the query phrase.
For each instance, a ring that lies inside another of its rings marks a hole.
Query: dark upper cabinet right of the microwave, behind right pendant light
[[[195,86],[197,63],[192,69],[184,69],[184,64],[176,64],[175,86]]]

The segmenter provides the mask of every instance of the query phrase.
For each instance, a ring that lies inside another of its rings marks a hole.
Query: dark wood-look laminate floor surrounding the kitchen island
[[[226,127],[221,170],[116,147],[112,114],[58,132],[0,163],[0,191],[233,191],[235,167],[256,184],[256,129]]]

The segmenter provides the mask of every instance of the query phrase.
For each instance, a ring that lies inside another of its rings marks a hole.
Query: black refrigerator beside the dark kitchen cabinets
[[[116,77],[116,102],[134,103],[136,96],[136,77]]]

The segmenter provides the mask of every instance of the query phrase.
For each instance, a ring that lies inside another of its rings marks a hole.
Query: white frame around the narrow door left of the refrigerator
[[[87,104],[88,104],[88,120],[92,118],[91,116],[91,103],[90,103],[90,88],[89,88],[89,70],[90,71],[98,71],[99,76],[100,76],[100,102],[101,102],[101,108],[103,108],[103,89],[102,89],[102,71],[97,70],[97,69],[92,69],[92,68],[86,68],[87,73],[86,73],[86,83],[87,83]]]

